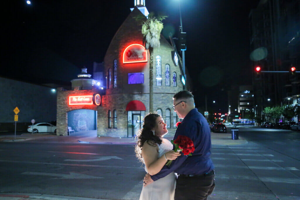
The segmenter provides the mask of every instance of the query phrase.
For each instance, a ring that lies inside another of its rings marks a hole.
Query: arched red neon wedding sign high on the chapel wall
[[[141,44],[131,44],[123,52],[123,63],[148,62],[147,50]]]

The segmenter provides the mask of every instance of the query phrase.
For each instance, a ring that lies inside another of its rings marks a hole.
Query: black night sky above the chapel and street
[[[0,76],[34,83],[70,83],[85,66],[102,62],[134,0],[9,1]],[[248,15],[258,0],[182,0],[187,32],[186,67],[197,107],[227,112],[232,84],[252,84]],[[179,30],[178,0],[146,0],[149,12],[167,15],[162,33]],[[2,32],[2,33],[3,33]],[[74,70],[76,69],[76,70]]]

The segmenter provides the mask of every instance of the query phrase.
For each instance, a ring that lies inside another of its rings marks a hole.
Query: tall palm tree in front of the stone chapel
[[[149,112],[153,112],[153,49],[159,48],[161,43],[159,41],[161,37],[161,31],[164,28],[162,20],[167,16],[155,17],[153,13],[148,15],[148,19],[145,16],[136,17],[137,20],[142,19],[142,34],[144,37],[144,45],[146,49],[149,49]]]

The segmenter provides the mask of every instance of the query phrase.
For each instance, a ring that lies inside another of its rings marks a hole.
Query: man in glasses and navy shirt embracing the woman
[[[144,186],[163,178],[171,172],[178,174],[175,200],[207,199],[214,190],[214,164],[210,159],[210,128],[202,114],[194,106],[192,93],[182,90],[173,97],[173,109],[183,119],[178,126],[174,140],[187,136],[194,142],[192,156],[179,156],[170,167],[164,166],[156,175],[146,174]]]

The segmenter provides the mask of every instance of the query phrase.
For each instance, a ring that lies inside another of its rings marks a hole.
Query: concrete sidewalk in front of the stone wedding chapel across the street
[[[165,137],[172,140],[173,137]],[[0,136],[0,142],[46,142],[46,143],[83,143],[83,144],[117,144],[117,145],[134,145],[135,138],[116,138],[105,136],[56,136],[48,133],[24,133],[14,136]],[[241,137],[238,140],[231,139],[231,133],[211,133],[212,145],[242,145],[247,141]]]

